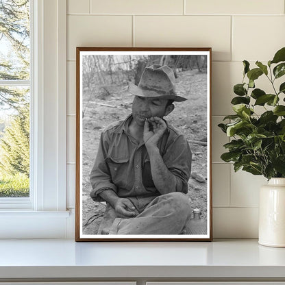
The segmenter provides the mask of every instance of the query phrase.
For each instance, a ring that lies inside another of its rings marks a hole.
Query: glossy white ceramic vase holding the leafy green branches
[[[271,178],[260,188],[258,243],[285,247],[285,178]]]

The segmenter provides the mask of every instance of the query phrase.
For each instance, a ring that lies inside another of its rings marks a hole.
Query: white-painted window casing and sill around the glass
[[[31,94],[26,93],[30,101],[31,192],[29,197],[0,199],[0,238],[64,238],[69,223],[65,186],[66,0],[29,0],[29,7],[32,76],[17,88],[29,89]],[[5,84],[15,87],[11,81]]]

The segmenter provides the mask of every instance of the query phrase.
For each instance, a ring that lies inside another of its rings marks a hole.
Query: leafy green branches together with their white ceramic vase
[[[260,189],[259,243],[285,247],[285,82],[280,83],[285,47],[267,64],[257,61],[251,69],[244,60],[243,65],[243,82],[234,85],[237,96],[231,101],[235,114],[225,116],[230,123],[219,124],[232,138],[221,159],[234,162],[234,171],[267,177],[268,184]],[[256,86],[261,76],[267,77],[271,90]]]

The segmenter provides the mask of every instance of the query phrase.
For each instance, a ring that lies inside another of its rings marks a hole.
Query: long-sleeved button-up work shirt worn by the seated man
[[[125,121],[106,127],[101,134],[95,164],[90,173],[92,196],[112,189],[119,197],[128,198],[142,212],[148,203],[161,195],[153,184],[149,154],[144,143],[138,143],[129,133],[132,114]],[[176,177],[173,192],[188,192],[191,151],[186,138],[166,123],[167,129],[158,143],[166,167]]]

